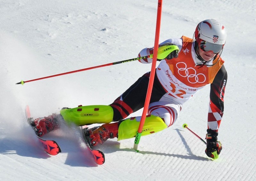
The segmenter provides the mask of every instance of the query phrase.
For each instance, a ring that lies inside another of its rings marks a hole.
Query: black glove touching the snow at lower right
[[[205,153],[207,156],[214,158],[214,155],[212,154],[213,152],[217,152],[217,154],[220,154],[220,151],[222,150],[222,145],[220,141],[217,139],[218,132],[213,131],[212,129],[207,129],[207,134],[206,134],[206,149]]]

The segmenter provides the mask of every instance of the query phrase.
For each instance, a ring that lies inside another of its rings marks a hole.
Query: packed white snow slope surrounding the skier
[[[142,48],[154,45],[157,1],[1,0],[1,180],[256,180],[255,6],[253,0],[163,0],[160,42],[192,38],[196,25],[209,18],[222,22],[228,32],[221,55],[228,83],[220,158],[209,159],[204,143],[182,128],[187,123],[205,137],[206,86],[183,105],[172,127],[142,137],[139,153],[133,150],[134,139],[99,146],[106,162],[98,166],[86,156],[79,131],[65,125],[45,136],[57,141],[62,153],[44,153],[26,123],[25,106],[37,118],[62,107],[108,105],[151,64],[134,61],[15,83],[137,57]]]

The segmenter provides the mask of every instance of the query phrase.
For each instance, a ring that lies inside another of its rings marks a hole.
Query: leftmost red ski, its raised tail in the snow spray
[[[28,105],[26,106],[25,113],[26,113],[26,118],[27,118],[29,126],[33,127],[31,124],[33,118],[31,118]],[[34,129],[34,131],[36,131],[36,127],[33,127],[33,129]],[[44,140],[44,139],[40,138],[38,135],[36,135],[36,136],[38,138],[38,141],[40,141],[40,143],[42,144],[42,148],[44,148],[44,151],[46,153],[48,153],[49,155],[57,155],[58,153],[61,152],[60,147],[56,141]]]

